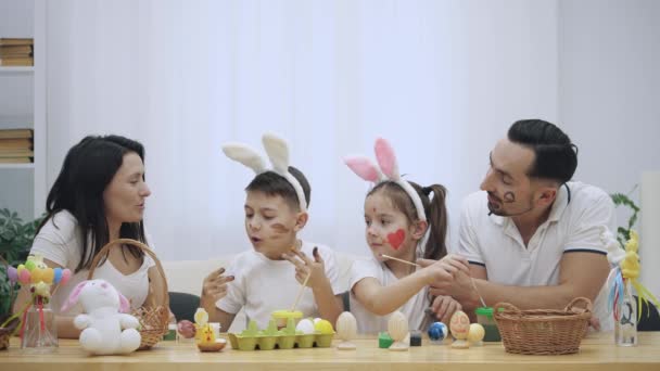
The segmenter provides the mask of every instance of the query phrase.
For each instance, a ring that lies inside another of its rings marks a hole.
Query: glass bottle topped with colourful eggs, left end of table
[[[40,255],[29,255],[25,264],[17,268],[9,267],[8,277],[11,283],[18,282],[28,287],[30,298],[14,316],[10,317],[2,328],[15,318],[20,318],[21,347],[38,351],[54,350],[58,347],[58,328],[55,316],[50,307],[51,287],[58,290],[71,279],[71,270],[49,268]],[[54,292],[53,290],[53,292]]]

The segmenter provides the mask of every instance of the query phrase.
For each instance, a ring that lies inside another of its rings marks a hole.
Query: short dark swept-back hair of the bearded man
[[[508,138],[534,151],[534,163],[528,169],[528,176],[563,184],[575,174],[578,146],[554,124],[542,119],[522,119],[511,125]]]

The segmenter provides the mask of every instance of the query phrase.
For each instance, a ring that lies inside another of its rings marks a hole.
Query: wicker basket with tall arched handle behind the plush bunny
[[[145,254],[149,254],[151,258],[155,261],[156,268],[158,269],[158,273],[163,279],[163,291],[161,292],[161,300],[156,303],[156,295],[150,295],[150,303],[144,303],[144,305],[132,311],[132,316],[135,316],[138,321],[140,321],[140,336],[142,341],[140,342],[139,350],[150,349],[152,346],[156,345],[168,332],[167,324],[169,323],[169,296],[167,293],[167,279],[165,278],[165,271],[163,270],[163,266],[161,265],[161,260],[155,256],[153,251],[149,248],[145,244],[130,239],[118,239],[111,241],[107,243],[101,251],[94,256],[94,259],[91,263],[91,268],[89,269],[89,273],[87,274],[87,279],[91,280],[94,273],[94,269],[99,265],[99,261],[103,257],[106,257],[110,253],[110,248],[113,246],[122,246],[122,245],[132,245],[142,250]],[[150,294],[151,284],[150,284]]]

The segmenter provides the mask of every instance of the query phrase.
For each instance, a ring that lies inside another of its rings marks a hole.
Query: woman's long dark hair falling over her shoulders
[[[82,256],[76,272],[89,269],[97,253],[110,242],[103,191],[122,166],[124,155],[131,152],[144,162],[144,148],[135,140],[119,136],[85,137],[68,150],[62,170],[48,193],[47,216],[37,233],[55,214],[69,212],[80,227],[82,241]],[[145,243],[143,221],[122,223],[119,238]],[[137,247],[126,248],[138,258],[144,256]]]

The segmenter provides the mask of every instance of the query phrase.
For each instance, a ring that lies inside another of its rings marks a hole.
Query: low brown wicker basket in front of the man
[[[563,310],[520,310],[511,304],[498,303],[493,307],[493,317],[506,351],[566,355],[580,349],[592,317],[592,302],[576,297]]]

